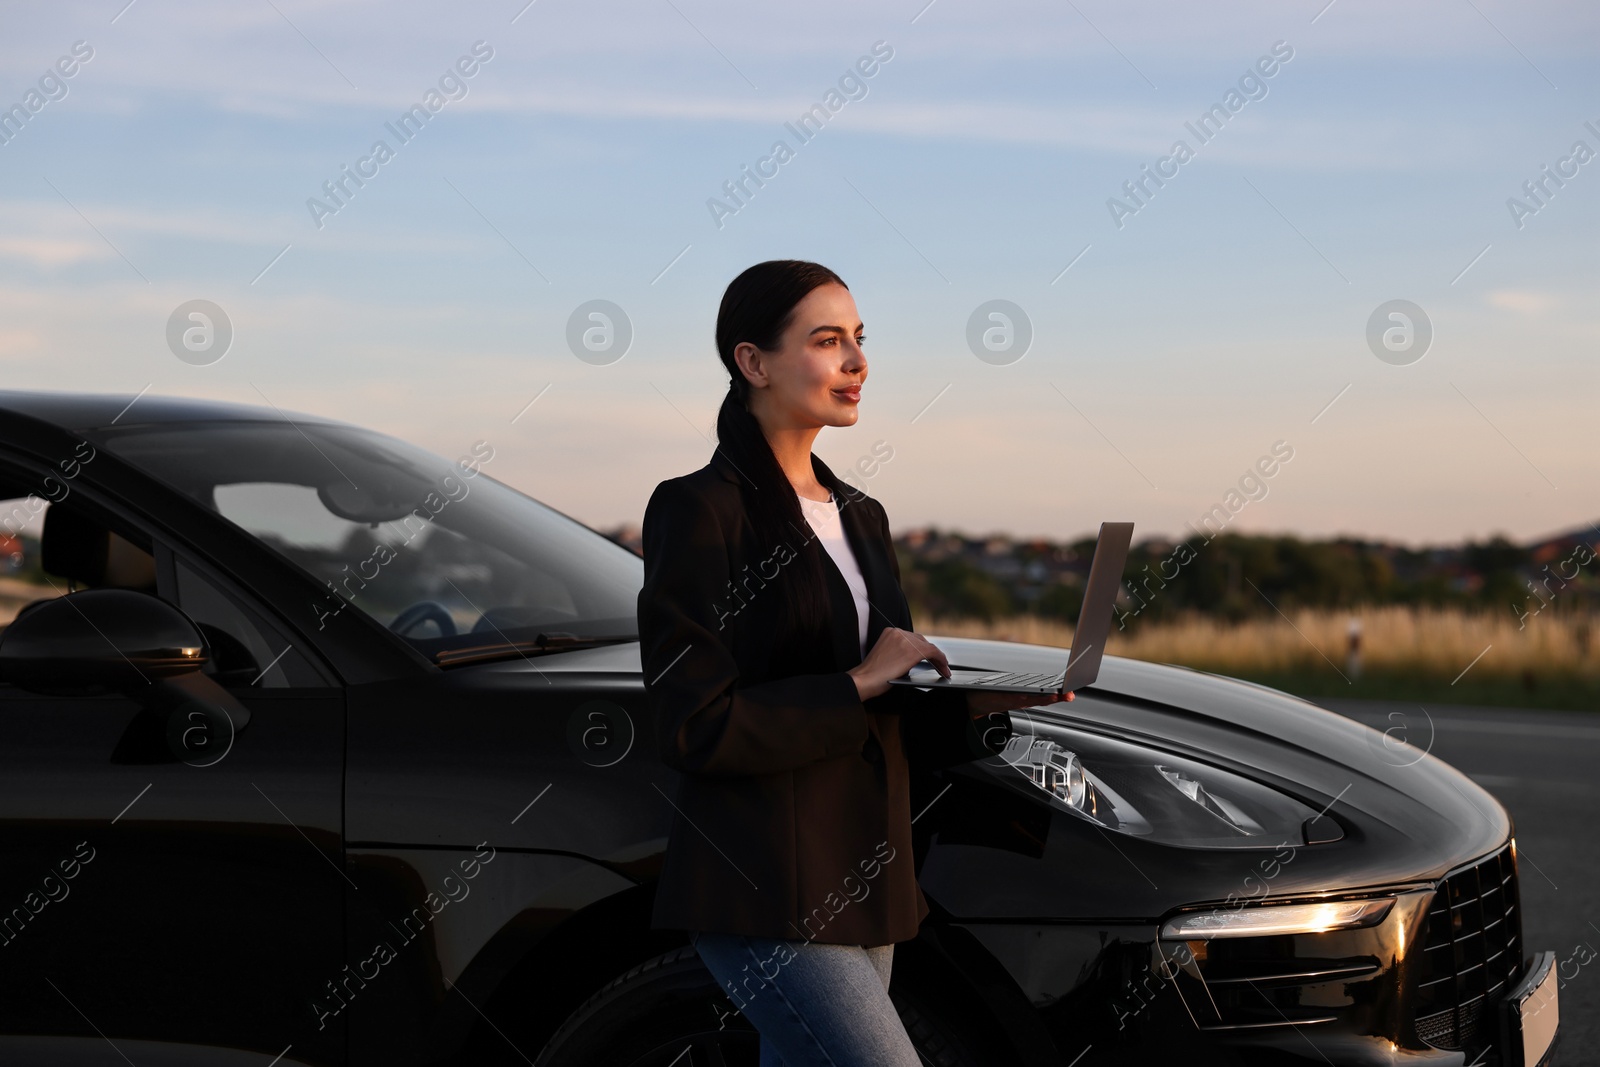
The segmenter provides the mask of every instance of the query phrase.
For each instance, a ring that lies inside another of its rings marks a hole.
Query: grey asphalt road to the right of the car
[[[1523,945],[1555,952],[1562,1067],[1600,1064],[1600,713],[1318,701],[1494,793],[1517,827]]]

